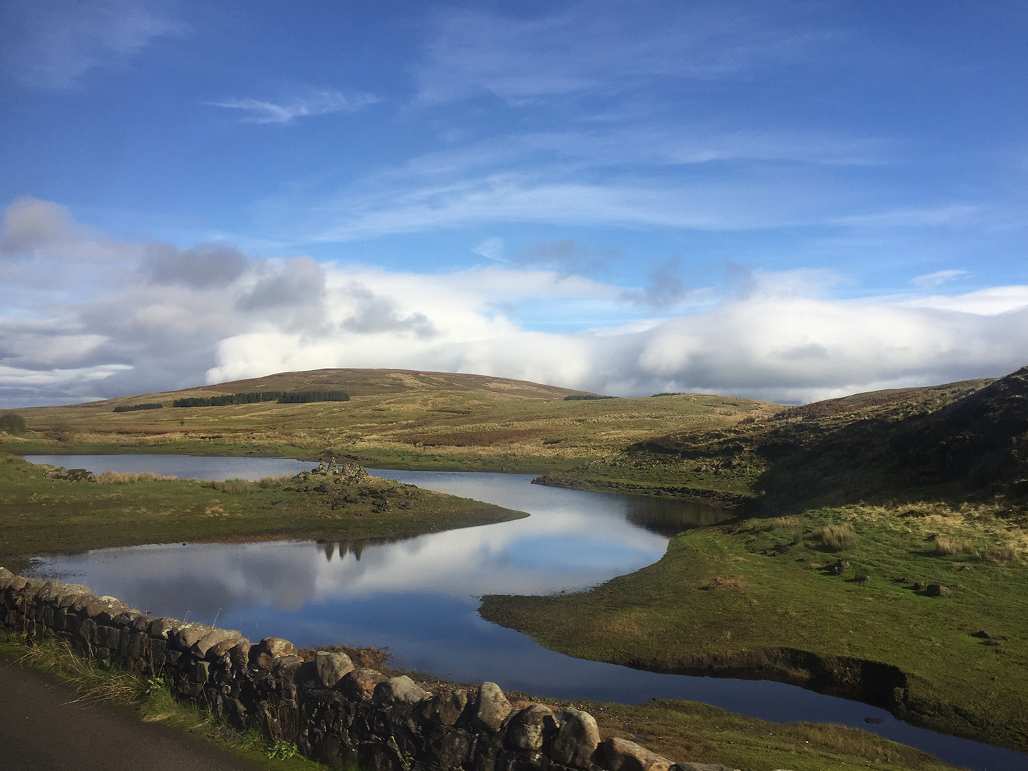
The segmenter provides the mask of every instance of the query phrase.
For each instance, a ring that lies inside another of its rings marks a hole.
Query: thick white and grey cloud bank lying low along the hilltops
[[[2,240],[45,243],[47,264],[68,269],[48,271],[45,290],[0,294],[0,400],[9,406],[320,367],[797,403],[1000,375],[1028,363],[1024,286],[853,300],[835,296],[839,280],[830,273],[741,267],[723,285],[687,292],[673,261],[636,290],[542,262],[398,272],[304,256],[262,259],[225,245],[120,244],[40,204],[15,204],[5,220],[13,231]],[[574,254],[561,244],[541,247],[541,258]],[[70,256],[62,263],[64,249]],[[95,272],[104,255],[114,278],[83,283],[76,266]],[[690,305],[693,293],[702,302]],[[568,328],[578,331],[534,328],[518,316],[528,305],[577,320]],[[581,323],[625,317],[589,329]]]

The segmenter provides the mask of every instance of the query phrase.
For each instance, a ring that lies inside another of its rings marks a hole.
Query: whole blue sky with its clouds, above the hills
[[[1028,364],[1018,2],[0,7],[0,403]]]

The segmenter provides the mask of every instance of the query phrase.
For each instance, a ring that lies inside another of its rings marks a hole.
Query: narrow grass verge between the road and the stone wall
[[[170,726],[259,768],[268,771],[327,768],[287,751],[282,742],[269,744],[256,731],[241,733],[195,706],[180,704],[160,680],[144,680],[121,669],[86,661],[57,640],[28,642],[21,635],[0,628],[0,658],[56,675],[78,691],[82,701],[127,707],[146,723]]]

